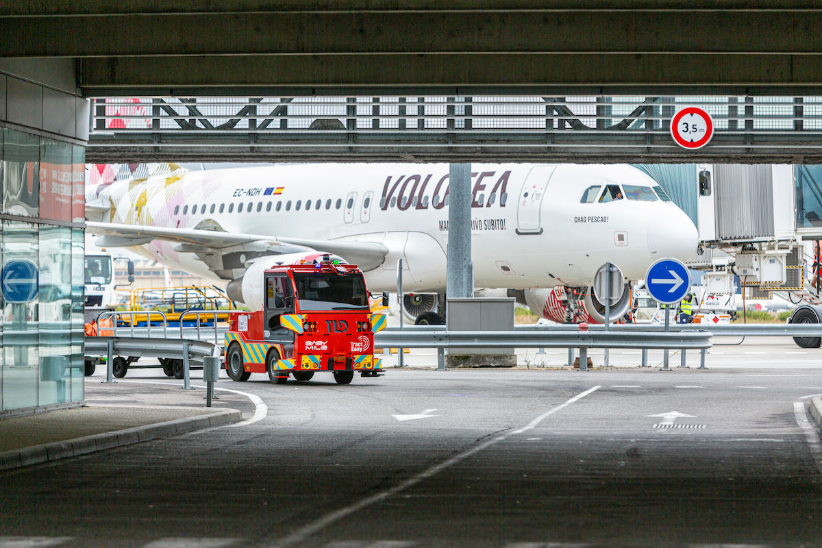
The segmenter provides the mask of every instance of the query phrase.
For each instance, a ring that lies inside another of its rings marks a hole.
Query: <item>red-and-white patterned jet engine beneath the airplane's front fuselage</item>
[[[545,289],[525,289],[525,304],[531,311],[548,320],[561,324],[566,320],[568,299],[566,290],[560,286]],[[619,320],[630,307],[630,285],[626,284],[625,291],[618,302],[611,306],[611,321]],[[588,288],[584,297],[577,300],[575,321],[604,324],[605,306],[593,298],[593,288]]]

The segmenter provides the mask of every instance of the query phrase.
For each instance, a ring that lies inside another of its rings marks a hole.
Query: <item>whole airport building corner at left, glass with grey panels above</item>
[[[72,60],[0,62],[0,416],[84,398],[88,126]]]

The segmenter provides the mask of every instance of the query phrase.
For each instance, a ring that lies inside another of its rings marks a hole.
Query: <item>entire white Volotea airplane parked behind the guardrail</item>
[[[282,254],[341,256],[363,269],[371,292],[396,291],[402,259],[405,312],[439,323],[448,164],[171,165],[87,185],[87,230],[99,246],[229,282],[240,302],[242,277],[260,277]],[[506,288],[552,320],[604,320],[589,287],[605,262],[637,280],[654,260],[696,249],[694,223],[628,165],[472,164],[471,185],[474,286]],[[627,293],[612,318],[630,305]]]

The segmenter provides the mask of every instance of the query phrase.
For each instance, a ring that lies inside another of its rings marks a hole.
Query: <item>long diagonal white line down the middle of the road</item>
[[[545,412],[539,417],[535,418],[533,421],[529,422],[528,426],[524,426],[524,428],[520,428],[518,431],[512,432],[513,434],[520,434],[524,431],[532,429],[534,426],[538,425],[545,417],[548,417],[552,413],[559,411],[562,408],[566,408],[571,403],[574,403],[581,398],[584,398],[588,394],[591,394],[594,390],[599,389],[599,386],[594,386],[592,389],[585,390],[582,394],[577,394],[573,398],[570,398],[566,403],[561,403],[560,405],[553,408],[551,411]],[[483,449],[487,449],[494,444],[501,442],[502,440],[506,440],[509,436],[508,435],[498,435],[491,440],[487,440],[482,444],[476,445],[475,447],[468,449],[454,457],[448,458],[445,461],[435,464],[432,467],[427,468],[423,472],[418,473],[416,476],[409,477],[409,479],[399,483],[396,486],[390,487],[386,490],[382,490],[379,493],[376,493],[371,496],[367,496],[362,500],[358,500],[349,506],[341,508],[339,510],[335,510],[330,513],[326,513],[326,515],[321,516],[320,518],[315,519],[311,523],[308,523],[304,527],[300,527],[297,531],[292,532],[288,536],[284,536],[283,538],[279,539],[279,541],[273,541],[270,544],[270,548],[286,548],[287,546],[300,546],[304,544],[309,536],[312,536],[314,533],[321,531],[332,523],[339,521],[342,518],[347,518],[353,513],[358,513],[360,510],[366,509],[367,507],[371,506],[372,504],[376,504],[381,502],[382,500],[386,500],[390,496],[396,495],[399,492],[402,492],[409,487],[413,487],[417,485],[419,482],[423,480],[427,480],[429,477],[436,476],[436,474],[442,472],[447,467],[453,466],[460,461],[469,458],[473,454],[478,454]]]

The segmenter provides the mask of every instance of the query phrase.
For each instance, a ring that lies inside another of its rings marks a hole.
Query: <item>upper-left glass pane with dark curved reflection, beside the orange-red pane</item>
[[[5,130],[2,211],[36,217],[39,213],[40,138]]]

